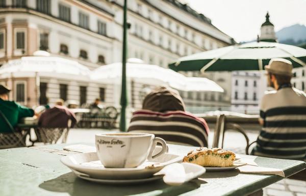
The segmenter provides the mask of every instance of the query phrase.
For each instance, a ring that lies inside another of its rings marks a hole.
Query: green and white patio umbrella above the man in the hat
[[[273,58],[287,59],[293,67],[306,66],[306,49],[276,42],[250,42],[188,55],[169,68],[201,72],[263,70]]]

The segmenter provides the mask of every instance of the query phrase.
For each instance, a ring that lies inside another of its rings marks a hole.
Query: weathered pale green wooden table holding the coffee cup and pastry
[[[67,144],[0,150],[0,195],[247,195],[282,180],[276,175],[206,173],[181,186],[168,186],[163,181],[140,185],[102,185],[79,179],[60,162],[72,152],[63,151]],[[170,153],[185,155],[195,147],[169,145]],[[247,155],[241,155],[247,156]],[[305,162],[257,157],[260,166],[282,169],[286,177],[305,169]]]

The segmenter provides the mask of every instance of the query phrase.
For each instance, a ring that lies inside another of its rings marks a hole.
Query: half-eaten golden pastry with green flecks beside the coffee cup
[[[228,167],[232,166],[235,160],[235,153],[221,148],[200,147],[190,151],[184,157],[183,162],[195,163],[201,166]]]

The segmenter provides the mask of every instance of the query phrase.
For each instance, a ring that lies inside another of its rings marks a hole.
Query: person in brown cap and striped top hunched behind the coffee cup
[[[162,87],[144,98],[128,131],[153,133],[167,143],[207,147],[209,128],[204,119],[185,111],[179,92]]]

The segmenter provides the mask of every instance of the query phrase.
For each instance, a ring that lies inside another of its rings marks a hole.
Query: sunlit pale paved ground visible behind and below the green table
[[[97,133],[116,132],[118,130],[102,130],[102,129],[72,129],[67,138],[67,143],[94,143],[94,135]],[[255,141],[258,132],[247,132],[250,142]],[[213,132],[209,135],[209,145],[213,141]],[[236,132],[226,132],[224,148],[236,149],[236,152],[243,153],[246,142],[244,137]],[[265,196],[306,196],[306,181],[285,179],[264,188]]]

